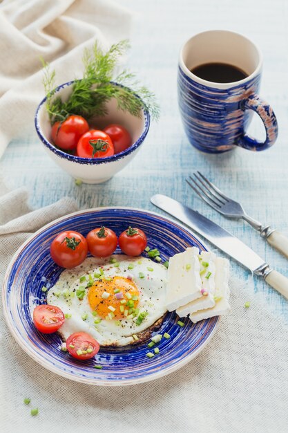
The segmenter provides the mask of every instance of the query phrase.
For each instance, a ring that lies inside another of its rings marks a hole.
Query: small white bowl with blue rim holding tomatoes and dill
[[[55,98],[61,97],[66,101],[72,91],[73,81],[61,84],[55,91]],[[113,83],[117,86],[120,84]],[[147,110],[142,110],[140,117],[132,116],[128,111],[117,109],[115,98],[106,103],[107,116],[93,118],[95,129],[103,129],[107,125],[116,123],[125,127],[131,135],[132,145],[128,149],[106,158],[80,158],[61,151],[51,140],[51,125],[46,110],[46,98],[42,100],[35,114],[35,128],[44,145],[44,149],[52,160],[65,172],[84,183],[102,183],[108,181],[122,170],[140,150],[148,133],[150,116]]]

